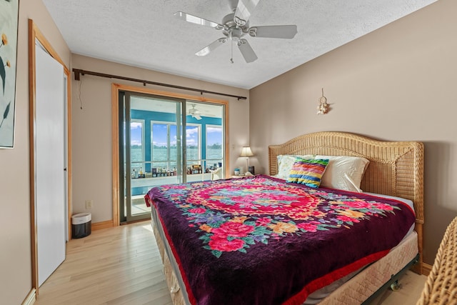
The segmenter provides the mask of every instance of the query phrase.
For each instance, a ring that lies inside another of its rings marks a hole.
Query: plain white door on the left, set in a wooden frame
[[[65,259],[64,67],[36,46],[35,208],[38,286]]]

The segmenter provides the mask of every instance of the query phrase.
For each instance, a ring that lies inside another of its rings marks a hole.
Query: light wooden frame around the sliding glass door
[[[176,99],[186,99],[188,101],[203,101],[213,104],[223,104],[225,106],[225,156],[224,161],[226,177],[229,177],[229,101],[222,99],[210,99],[204,96],[194,96],[189,94],[178,94],[175,92],[160,91],[144,87],[129,86],[124,84],[111,84],[111,154],[112,173],[113,173],[113,226],[120,225],[119,204],[120,204],[120,179],[119,176],[119,91],[131,91],[139,94],[152,94],[157,96],[166,96]]]

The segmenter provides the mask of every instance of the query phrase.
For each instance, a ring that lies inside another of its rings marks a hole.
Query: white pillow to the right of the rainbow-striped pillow
[[[343,189],[361,193],[360,183],[370,161],[359,156],[321,156],[316,159],[328,159],[326,171],[321,179],[321,187]]]

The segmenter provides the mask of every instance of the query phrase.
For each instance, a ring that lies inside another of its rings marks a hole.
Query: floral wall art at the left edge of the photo
[[[14,147],[19,0],[0,0],[0,149]]]

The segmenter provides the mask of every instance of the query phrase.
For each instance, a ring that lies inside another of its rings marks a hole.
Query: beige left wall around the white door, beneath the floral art
[[[28,19],[70,64],[69,48],[41,0],[19,2],[14,149],[0,149],[1,304],[21,304],[31,290]]]

